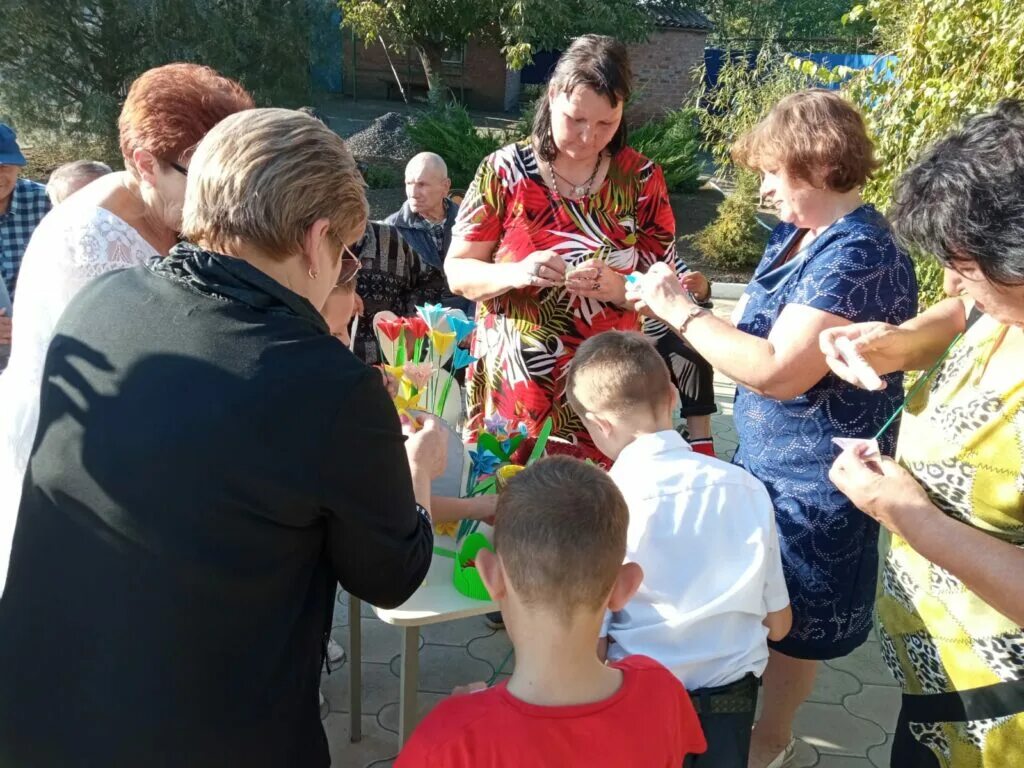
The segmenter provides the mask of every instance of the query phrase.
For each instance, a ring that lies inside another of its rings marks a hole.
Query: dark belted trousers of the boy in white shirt
[[[758,679],[751,674],[728,685],[691,690],[690,699],[703,728],[708,751],[687,756],[683,768],[746,768]]]

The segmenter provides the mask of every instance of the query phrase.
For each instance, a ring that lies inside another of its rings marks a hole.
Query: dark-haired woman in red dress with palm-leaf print
[[[452,290],[478,302],[470,434],[498,414],[536,436],[551,417],[553,452],[561,442],[608,463],[565,401],[566,367],[591,336],[640,329],[625,275],[656,261],[678,268],[662,169],[626,145],[630,79],[622,43],[578,38],[532,137],[486,158],[466,193],[444,268]],[[707,294],[698,273],[686,280]]]

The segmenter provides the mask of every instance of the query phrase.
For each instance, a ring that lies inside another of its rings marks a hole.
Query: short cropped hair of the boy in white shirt
[[[673,393],[669,367],[639,333],[606,331],[593,336],[569,362],[565,398],[581,417],[588,410],[655,412]]]

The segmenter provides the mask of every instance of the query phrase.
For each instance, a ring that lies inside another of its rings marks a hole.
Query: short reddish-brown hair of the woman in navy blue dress
[[[755,171],[784,170],[816,184],[846,193],[879,167],[867,127],[857,108],[835,91],[812,88],[791,93],[739,137],[732,159]]]

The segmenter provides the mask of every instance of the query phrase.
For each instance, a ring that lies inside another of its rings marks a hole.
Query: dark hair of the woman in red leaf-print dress
[[[571,94],[580,87],[590,88],[607,98],[613,108],[629,100],[633,88],[630,54],[626,46],[614,38],[605,35],[578,37],[558,59],[550,85],[565,94]],[[612,155],[626,146],[627,138],[624,118],[608,142]],[[558,147],[551,134],[551,104],[547,93],[541,96],[537,106],[534,139],[542,159],[550,163],[558,157]]]

